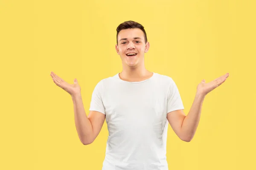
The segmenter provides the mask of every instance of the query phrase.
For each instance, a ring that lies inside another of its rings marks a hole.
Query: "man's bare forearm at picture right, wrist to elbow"
[[[201,109],[204,102],[205,95],[196,93],[194,102],[190,108],[188,115],[185,117],[182,123],[181,131],[183,136],[186,136],[186,141],[191,141],[195,135],[195,131],[198,127]]]

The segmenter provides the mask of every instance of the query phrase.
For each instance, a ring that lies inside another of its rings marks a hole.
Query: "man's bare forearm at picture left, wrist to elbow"
[[[78,133],[79,139],[83,144],[90,144],[93,128],[84,111],[81,94],[76,94],[71,97],[74,105],[76,131]]]

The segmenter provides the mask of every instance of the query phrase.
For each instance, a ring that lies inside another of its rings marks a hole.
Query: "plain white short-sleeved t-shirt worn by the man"
[[[165,75],[128,82],[116,74],[98,82],[89,110],[106,115],[109,136],[102,170],[168,170],[166,116],[180,109],[178,88]]]

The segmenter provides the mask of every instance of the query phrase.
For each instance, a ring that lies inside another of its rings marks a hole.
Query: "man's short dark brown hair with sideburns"
[[[147,34],[146,34],[146,31],[144,29],[144,27],[140,24],[140,23],[137,23],[135,21],[125,21],[124,23],[121,23],[117,28],[116,28],[116,44],[118,45],[118,40],[117,40],[117,36],[119,34],[119,32],[122,30],[122,29],[128,29],[128,28],[139,28],[141,31],[143,31],[144,33],[144,38],[145,38],[145,43],[148,42],[148,39],[147,39]]]

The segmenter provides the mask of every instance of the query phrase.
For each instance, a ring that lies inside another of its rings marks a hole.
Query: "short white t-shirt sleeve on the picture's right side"
[[[167,98],[167,113],[171,111],[180,110],[180,109],[184,109],[183,102],[181,100],[177,85],[171,78],[170,84],[169,84],[168,98]]]

